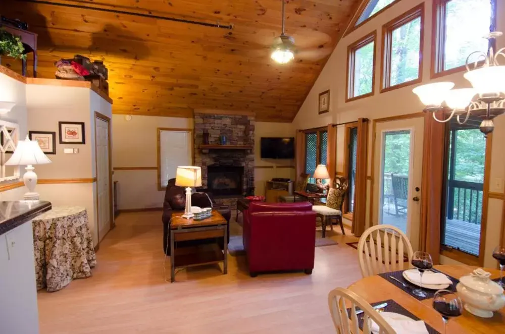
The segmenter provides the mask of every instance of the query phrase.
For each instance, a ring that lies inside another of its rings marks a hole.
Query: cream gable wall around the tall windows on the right
[[[385,93],[379,93],[380,89],[380,63],[381,63],[381,27],[383,24],[394,19],[395,17],[405,13],[418,4],[422,3],[421,0],[403,0],[399,1],[394,6],[385,10],[374,19],[365,23],[355,31],[343,37],[335,50],[333,51],[328,63],[319,75],[317,81],[312,87],[305,102],[299,109],[293,121],[294,129],[307,129],[313,127],[326,126],[328,123],[344,123],[356,121],[358,118],[368,118],[370,120],[405,115],[421,112],[423,105],[418,97],[412,93],[414,86],[407,86],[405,88],[395,89]],[[497,30],[504,31],[505,29],[505,2],[497,1]],[[430,62],[431,62],[431,34],[432,34],[432,1],[425,1],[424,13],[424,57],[423,57],[423,73],[422,83],[429,83],[430,80]],[[375,95],[359,99],[356,101],[345,102],[345,84],[346,84],[346,59],[347,59],[347,46],[370,32],[377,30],[377,51],[375,57],[376,73],[375,73]],[[498,48],[505,46],[505,36],[502,36],[497,41]],[[456,83],[456,88],[470,87],[470,83],[463,78],[463,72],[455,73],[452,75],[444,76],[436,81],[452,81]],[[320,92],[330,89],[330,112],[323,115],[318,115],[318,94]],[[370,122],[369,129],[369,169],[371,163],[371,140],[372,140],[372,122]],[[490,191],[503,192],[503,189],[496,188],[496,180],[505,178],[505,157],[502,154],[500,143],[505,141],[505,117],[501,116],[495,120],[495,130],[493,133],[493,147],[491,153],[491,182]],[[344,137],[343,127],[337,129],[337,171],[342,171],[344,159]],[[370,182],[368,182],[370,187]],[[369,195],[370,198],[370,195]],[[501,200],[490,199],[488,207],[488,220],[487,220],[487,233],[486,233],[486,257],[484,265],[494,267],[496,262],[491,257],[491,252],[494,246],[498,244],[499,231],[501,221]],[[369,215],[367,214],[367,219]],[[369,222],[367,221],[367,224]]]

